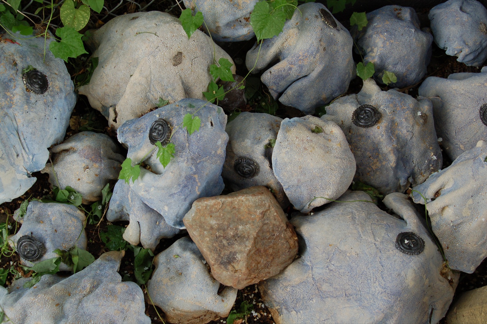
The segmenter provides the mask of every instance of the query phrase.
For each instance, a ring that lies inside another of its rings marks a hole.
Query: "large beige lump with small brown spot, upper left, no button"
[[[213,54],[233,63],[205,33],[196,30],[188,39],[179,19],[158,11],[115,17],[93,33],[90,44],[98,67],[79,93],[115,129],[156,107],[159,98],[203,99]]]

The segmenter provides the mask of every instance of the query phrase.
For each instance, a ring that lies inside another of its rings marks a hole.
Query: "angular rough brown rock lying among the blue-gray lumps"
[[[293,227],[263,186],[200,198],[183,221],[211,274],[226,286],[242,289],[275,276],[298,252]]]

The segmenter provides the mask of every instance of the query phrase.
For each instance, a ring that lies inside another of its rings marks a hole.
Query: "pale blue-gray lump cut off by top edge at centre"
[[[258,0],[183,0],[194,16],[200,11],[205,18],[203,30],[216,41],[242,41],[254,37],[250,14]],[[206,27],[208,29],[206,29]],[[209,33],[208,33],[209,32]]]

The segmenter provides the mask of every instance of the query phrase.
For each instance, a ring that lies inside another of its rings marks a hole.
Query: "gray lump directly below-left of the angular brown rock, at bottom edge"
[[[154,258],[155,270],[147,284],[152,303],[161,307],[170,323],[204,324],[227,317],[237,289],[211,277],[200,251],[183,237]]]

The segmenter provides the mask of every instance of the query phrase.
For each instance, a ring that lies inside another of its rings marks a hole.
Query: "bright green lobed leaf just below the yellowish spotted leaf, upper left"
[[[71,1],[71,0],[70,0]],[[49,49],[54,57],[59,57],[68,62],[68,57],[77,57],[78,55],[88,53],[85,51],[81,35],[72,27],[61,27],[56,29],[56,36],[61,38],[60,42],[52,41]]]

